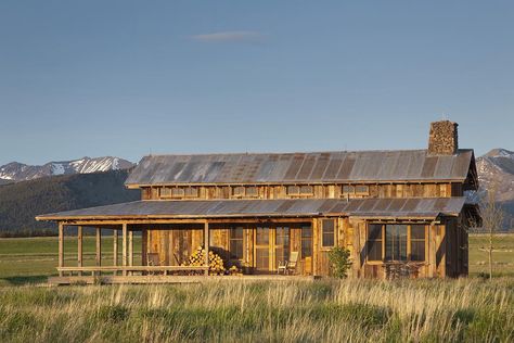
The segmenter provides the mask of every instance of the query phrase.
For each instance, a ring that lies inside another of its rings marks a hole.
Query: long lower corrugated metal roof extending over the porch
[[[293,217],[344,215],[361,217],[457,216],[465,198],[286,199],[136,201],[38,216],[38,220],[131,218]]]

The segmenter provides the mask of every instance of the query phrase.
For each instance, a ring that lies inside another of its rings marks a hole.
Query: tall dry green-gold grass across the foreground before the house
[[[514,279],[1,288],[1,342],[514,341]]]

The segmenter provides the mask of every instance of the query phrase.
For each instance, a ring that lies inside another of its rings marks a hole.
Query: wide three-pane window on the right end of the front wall
[[[426,229],[424,225],[368,226],[368,261],[425,261]]]

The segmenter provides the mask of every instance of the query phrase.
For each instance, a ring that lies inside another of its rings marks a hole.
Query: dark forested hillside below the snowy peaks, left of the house
[[[128,170],[44,177],[0,186],[0,236],[38,234],[54,228],[38,214],[138,200],[124,186]]]

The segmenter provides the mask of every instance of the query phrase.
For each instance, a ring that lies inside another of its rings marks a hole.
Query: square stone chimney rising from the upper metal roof
[[[450,120],[431,123],[428,137],[429,155],[453,155],[459,149],[457,127],[459,124]]]

